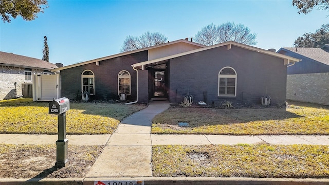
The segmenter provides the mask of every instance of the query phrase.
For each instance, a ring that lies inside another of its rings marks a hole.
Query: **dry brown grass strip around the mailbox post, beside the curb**
[[[104,146],[68,145],[65,168],[54,167],[56,145],[0,144],[0,178],[85,177]]]

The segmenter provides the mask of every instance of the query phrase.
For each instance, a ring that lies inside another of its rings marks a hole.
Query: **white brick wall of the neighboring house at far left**
[[[32,81],[25,81],[24,71],[24,67],[0,65],[0,100],[13,99],[16,95],[22,96],[22,84],[32,83]],[[38,72],[43,73],[42,70],[32,69],[32,73]]]

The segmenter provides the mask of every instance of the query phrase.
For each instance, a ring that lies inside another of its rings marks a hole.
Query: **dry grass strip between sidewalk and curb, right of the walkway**
[[[155,145],[155,177],[328,178],[325,145]]]

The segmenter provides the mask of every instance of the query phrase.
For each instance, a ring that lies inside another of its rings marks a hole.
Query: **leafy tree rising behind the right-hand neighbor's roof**
[[[304,33],[294,42],[295,47],[321,47],[329,44],[329,23],[322,25],[315,33]]]

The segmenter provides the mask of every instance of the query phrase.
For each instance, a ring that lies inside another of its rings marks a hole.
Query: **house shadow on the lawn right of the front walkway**
[[[175,107],[166,110],[153,119],[153,123],[166,123],[177,125],[179,122],[188,122],[189,127],[199,127],[202,125],[230,125],[249,122],[272,122],[302,118],[286,111],[285,108],[184,108]],[[255,123],[258,124],[258,123]]]

